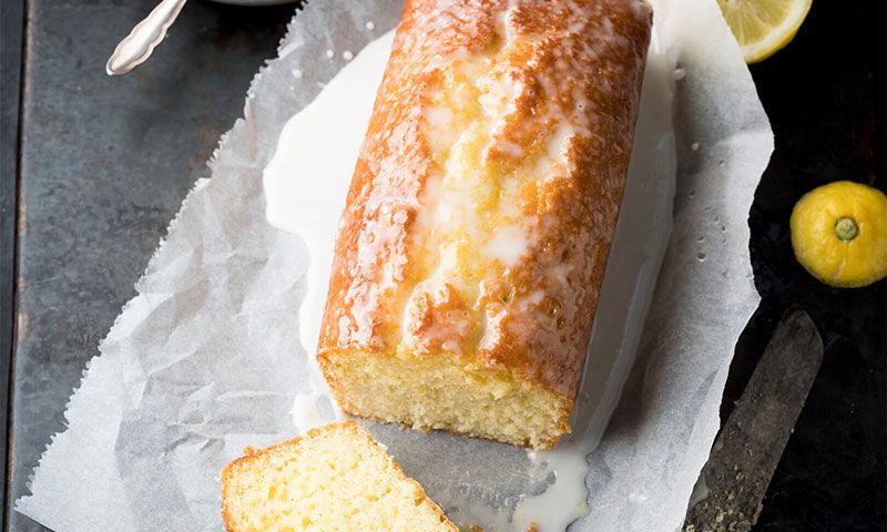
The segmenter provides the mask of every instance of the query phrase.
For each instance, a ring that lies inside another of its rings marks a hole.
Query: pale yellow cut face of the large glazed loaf
[[[451,356],[329,355],[324,371],[346,411],[419,430],[446,429],[530,448],[550,448],[569,432],[572,409],[542,387]]]

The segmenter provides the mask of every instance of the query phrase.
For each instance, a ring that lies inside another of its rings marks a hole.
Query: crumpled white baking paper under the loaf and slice
[[[674,228],[636,361],[589,457],[591,512],[572,531],[681,525],[717,431],[735,340],[758,301],[747,214],[773,150],[768,121],[713,1],[654,8],[679,68]],[[296,432],[293,400],[309,387],[297,319],[306,249],[265,223],[262,171],[285,121],[341,66],[327,50],[360,50],[399,11],[400,0],[314,0],[296,14],[210,162],[212,178],[188,194],[89,364],[69,428],[52,439],[18,511],[57,532],[218,531],[218,470],[245,446]],[[416,441],[398,446],[397,458],[418,463],[405,468],[420,481],[470,485],[471,460],[498,456],[480,442],[466,463],[420,470],[429,449],[456,437],[426,444],[424,434],[376,432]],[[500,469],[502,480],[526,474]]]

